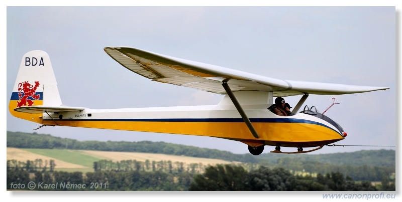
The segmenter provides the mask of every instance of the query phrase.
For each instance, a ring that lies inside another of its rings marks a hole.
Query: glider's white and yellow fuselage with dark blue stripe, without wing
[[[211,136],[237,140],[251,146],[279,144],[289,147],[315,147],[344,139],[343,131],[315,116],[297,113],[283,117],[269,111],[267,108],[270,104],[243,105],[259,135],[259,138],[255,138],[235,106],[224,100],[218,105],[85,108],[82,111],[48,112],[40,116],[29,114],[31,117],[27,117],[28,113],[10,111],[15,116],[23,115],[25,119],[43,125]]]

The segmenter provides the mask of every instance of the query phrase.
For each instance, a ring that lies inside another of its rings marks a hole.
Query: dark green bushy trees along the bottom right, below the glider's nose
[[[340,172],[325,175],[293,175],[284,168],[261,166],[247,171],[242,166],[210,166],[204,174],[194,176],[189,190],[210,191],[375,191],[395,190],[395,183],[384,178],[377,189],[369,181],[356,182]]]

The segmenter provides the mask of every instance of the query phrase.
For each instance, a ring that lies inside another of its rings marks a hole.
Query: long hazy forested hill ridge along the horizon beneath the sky
[[[121,151],[159,153],[178,156],[202,157],[239,161],[245,163],[276,164],[280,159],[293,161],[319,162],[334,165],[395,167],[395,150],[362,150],[333,154],[276,154],[264,153],[259,156],[251,154],[234,154],[217,149],[198,148],[194,146],[165,142],[127,142],[127,141],[78,141],[69,138],[54,137],[49,134],[22,133],[7,131],[7,147],[45,148],[45,149],[78,149],[97,151]]]

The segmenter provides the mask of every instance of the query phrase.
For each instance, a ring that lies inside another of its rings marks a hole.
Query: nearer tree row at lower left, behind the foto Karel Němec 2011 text
[[[32,176],[33,175],[33,176]],[[161,171],[96,171],[96,172],[40,172],[27,170],[7,171],[8,190],[188,190],[192,175],[166,173]],[[28,183],[35,183],[30,188]]]

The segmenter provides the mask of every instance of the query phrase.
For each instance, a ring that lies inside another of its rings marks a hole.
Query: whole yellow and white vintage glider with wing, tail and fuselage
[[[49,56],[44,51],[24,55],[10,112],[25,120],[52,126],[73,126],[158,133],[200,135],[241,141],[250,153],[265,145],[318,147],[342,140],[346,133],[329,117],[307,107],[309,94],[340,95],[386,90],[387,87],[288,81],[250,74],[129,47],[105,52],[128,70],[153,81],[224,94],[217,105],[130,109],[89,109],[62,105]],[[293,116],[278,116],[267,108],[273,97],[303,95]],[[41,127],[42,127],[41,126]],[[314,134],[314,135],[312,135]],[[310,150],[312,151],[312,150]]]

